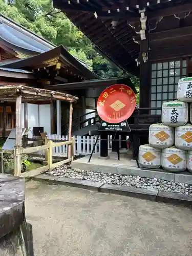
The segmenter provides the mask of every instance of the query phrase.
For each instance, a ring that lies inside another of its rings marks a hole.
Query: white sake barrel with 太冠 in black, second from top
[[[162,105],[162,123],[169,126],[185,125],[188,121],[188,105],[178,100],[164,102]]]

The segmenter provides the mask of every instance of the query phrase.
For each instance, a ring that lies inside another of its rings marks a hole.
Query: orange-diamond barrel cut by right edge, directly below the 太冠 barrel
[[[175,129],[175,145],[181,150],[192,150],[192,125],[176,127]]]

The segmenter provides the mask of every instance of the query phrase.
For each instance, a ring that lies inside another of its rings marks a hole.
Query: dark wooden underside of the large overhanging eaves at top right
[[[186,31],[186,27],[192,24],[191,0],[53,0],[53,5],[65,12],[101,52],[133,74],[139,74],[135,61],[140,52],[141,40],[139,10],[145,10],[149,37],[154,36],[150,46],[150,59],[157,60],[167,56],[173,58],[179,54],[192,55],[189,48],[191,38],[186,40],[187,50],[184,48],[186,44],[181,40],[182,33],[184,39],[188,34],[191,35],[191,27]],[[116,26],[112,26],[112,21],[116,21]],[[171,36],[167,39],[171,30]],[[162,34],[159,33],[161,31]],[[138,44],[133,40],[134,36]],[[176,49],[178,47],[181,47],[179,51]]]

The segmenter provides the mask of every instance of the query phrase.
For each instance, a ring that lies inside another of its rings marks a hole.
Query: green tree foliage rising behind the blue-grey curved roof
[[[101,77],[127,75],[99,55],[89,38],[65,14],[53,8],[52,0],[0,0],[0,11],[53,44],[65,46]],[[132,81],[138,86],[137,78],[133,77]]]

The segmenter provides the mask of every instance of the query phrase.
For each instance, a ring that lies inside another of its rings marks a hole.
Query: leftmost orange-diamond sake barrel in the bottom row
[[[150,145],[139,147],[139,165],[145,168],[159,168],[161,166],[161,151]]]

